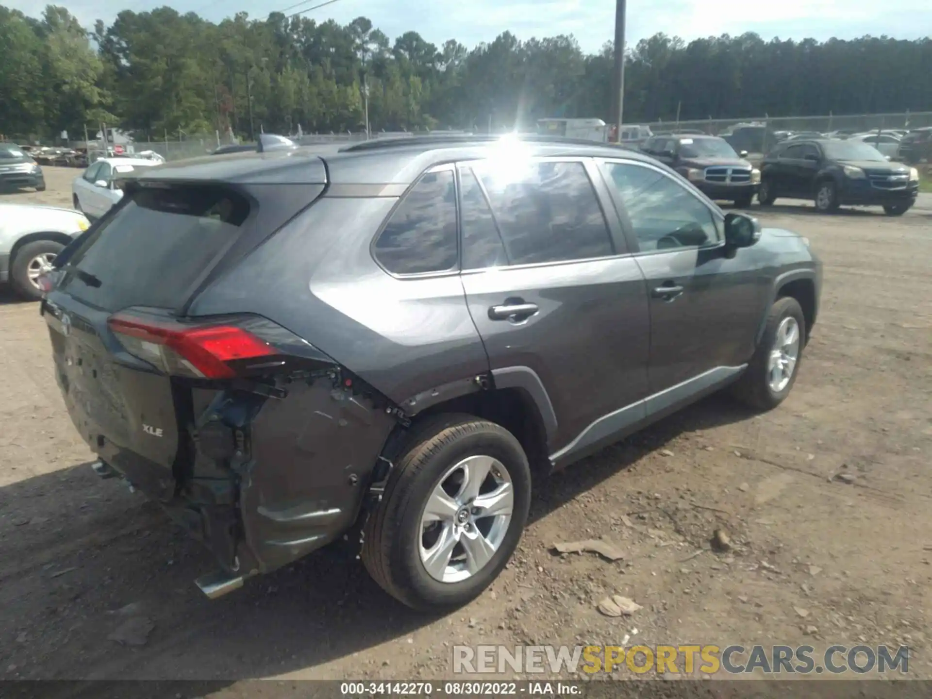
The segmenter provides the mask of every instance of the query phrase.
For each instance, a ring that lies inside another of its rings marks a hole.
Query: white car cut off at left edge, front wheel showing
[[[39,277],[89,226],[84,214],[70,209],[0,204],[0,281],[27,298],[40,298]]]

